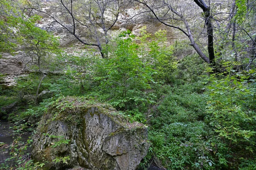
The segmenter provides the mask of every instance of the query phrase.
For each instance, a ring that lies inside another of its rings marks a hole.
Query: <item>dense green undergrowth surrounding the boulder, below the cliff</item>
[[[1,89],[1,119],[15,122],[16,132],[34,131],[58,97],[81,96],[108,102],[128,121],[148,125],[151,147],[142,168],[255,169],[255,69],[237,72],[229,61],[222,65],[224,71],[213,74],[189,47],[182,48],[184,42],[166,46],[165,31],[151,37],[155,41],[148,42],[148,36],[145,30],[139,38],[123,32],[108,59],[89,52],[56,56],[63,70],[47,74],[38,102],[41,74],[36,71]],[[181,54],[186,57],[177,60]],[[7,114],[4,108],[15,101],[15,111]],[[44,166],[33,163],[20,146],[11,150],[14,169]]]

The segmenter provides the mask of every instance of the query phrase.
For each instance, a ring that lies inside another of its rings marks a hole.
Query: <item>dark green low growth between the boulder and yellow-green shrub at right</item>
[[[151,148],[145,169],[153,160],[170,170],[215,169],[208,141],[212,131],[204,122],[206,96],[202,93],[207,81],[199,77],[204,67],[198,57],[186,56],[170,74],[172,85],[154,86],[159,102],[148,127]]]

